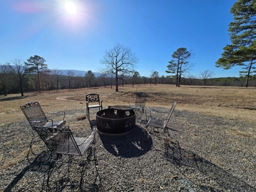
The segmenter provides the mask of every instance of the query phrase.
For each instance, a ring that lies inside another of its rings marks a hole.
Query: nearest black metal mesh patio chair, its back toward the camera
[[[55,154],[56,158],[52,160],[52,163],[68,163],[68,177],[69,177],[69,163],[76,163],[83,165],[83,170],[81,171],[80,187],[83,181],[84,166],[92,161],[92,156],[94,154],[95,161],[95,148],[93,152],[92,144],[95,144],[95,129],[90,132],[86,138],[74,137],[68,125],[61,128],[52,127],[38,127],[34,126],[34,129],[40,135],[40,138],[44,141],[45,145],[51,151],[52,156]],[[85,155],[87,152],[87,156]],[[68,161],[63,161],[62,157],[67,156]],[[79,161],[74,161],[72,156],[86,157]],[[49,186],[49,179],[51,177],[52,170],[54,166],[49,167],[47,186]]]

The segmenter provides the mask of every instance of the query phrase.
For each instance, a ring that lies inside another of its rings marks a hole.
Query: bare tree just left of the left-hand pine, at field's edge
[[[12,63],[14,66],[10,67],[10,70],[12,71],[13,79],[20,86],[21,96],[24,96],[23,85],[24,85],[24,80],[26,79],[27,67],[24,65],[24,61],[20,59],[14,60],[12,61]]]

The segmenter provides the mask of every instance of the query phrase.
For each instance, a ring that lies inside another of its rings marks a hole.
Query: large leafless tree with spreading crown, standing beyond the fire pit
[[[100,62],[107,66],[106,71],[109,74],[115,74],[116,92],[118,92],[118,73],[129,74],[138,63],[138,58],[132,53],[129,47],[124,47],[117,43],[113,49],[106,51],[105,56]]]

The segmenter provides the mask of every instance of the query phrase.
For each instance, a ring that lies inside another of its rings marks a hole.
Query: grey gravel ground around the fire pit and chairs
[[[66,111],[74,136],[89,134],[95,113],[90,124],[76,120],[83,109]],[[36,132],[25,120],[2,125],[0,191],[256,191],[255,125],[175,110],[167,128],[154,132],[141,119],[123,136],[96,133],[97,161],[84,172],[78,164],[69,173],[67,164],[56,164],[48,187],[44,143],[36,138],[28,156]]]

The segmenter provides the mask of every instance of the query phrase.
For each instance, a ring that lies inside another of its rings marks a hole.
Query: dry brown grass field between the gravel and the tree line
[[[222,86],[140,85],[115,88],[83,88],[79,90],[56,90],[42,93],[12,94],[0,96],[0,125],[24,120],[20,104],[38,100],[44,111],[68,111],[84,108],[88,93],[99,93],[104,108],[113,104],[129,105],[135,99],[135,92],[147,93],[147,106],[170,107],[177,101],[178,110],[192,111],[209,116],[221,116],[244,122],[256,123],[256,88]]]

